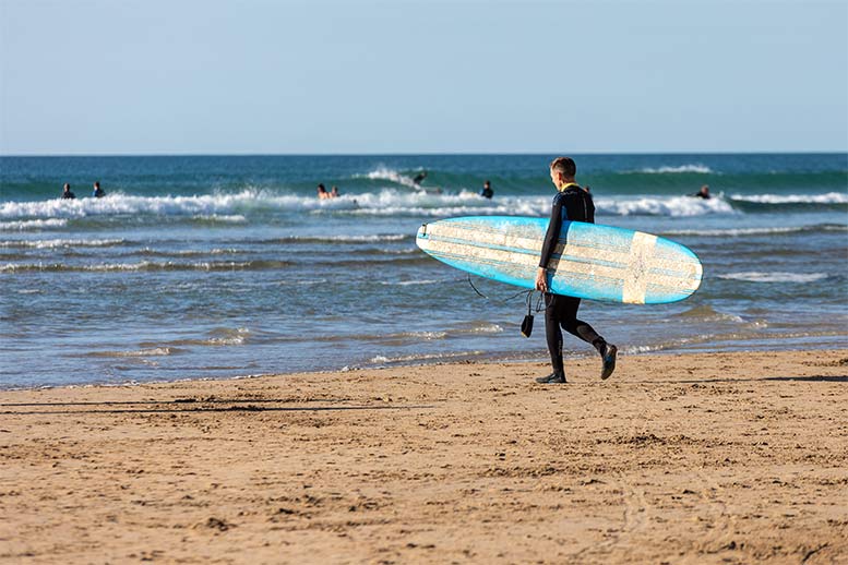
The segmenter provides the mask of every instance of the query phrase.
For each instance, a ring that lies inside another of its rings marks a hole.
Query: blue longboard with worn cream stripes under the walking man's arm
[[[416,243],[452,267],[534,288],[548,219],[468,216],[425,224]],[[697,256],[671,240],[612,226],[564,221],[548,265],[556,294],[628,304],[661,304],[701,285]]]

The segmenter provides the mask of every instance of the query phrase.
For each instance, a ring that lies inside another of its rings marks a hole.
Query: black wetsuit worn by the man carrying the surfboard
[[[539,266],[547,268],[559,240],[560,230],[565,221],[585,221],[595,224],[595,204],[592,195],[577,184],[571,184],[553,196],[551,219],[545,243],[541,247]],[[587,323],[577,320],[580,300],[564,294],[545,293],[545,334],[548,339],[548,351],[554,373],[564,374],[562,366],[562,332],[592,344],[599,352],[604,351],[606,341]]]

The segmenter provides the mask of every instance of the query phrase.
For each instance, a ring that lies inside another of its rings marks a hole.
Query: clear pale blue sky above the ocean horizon
[[[0,154],[848,151],[848,2],[0,0]]]

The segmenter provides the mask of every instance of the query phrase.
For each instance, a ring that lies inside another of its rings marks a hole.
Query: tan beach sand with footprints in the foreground
[[[2,563],[848,563],[848,350],[0,393]]]

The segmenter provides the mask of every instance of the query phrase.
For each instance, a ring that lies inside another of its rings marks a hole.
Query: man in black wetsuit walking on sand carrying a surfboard
[[[548,292],[548,266],[565,221],[585,221],[595,224],[595,204],[588,191],[574,181],[577,166],[570,157],[558,157],[550,165],[550,175],[557,195],[553,196],[551,219],[541,248],[539,269],[536,273],[536,290],[545,292],[545,334],[548,351],[551,356],[553,372],[536,380],[538,383],[564,383],[565,370],[562,365],[562,330],[592,344],[604,360],[600,377],[609,378],[616,370],[618,348],[607,344],[587,323],[577,320],[580,299]]]

